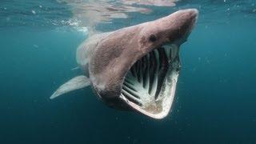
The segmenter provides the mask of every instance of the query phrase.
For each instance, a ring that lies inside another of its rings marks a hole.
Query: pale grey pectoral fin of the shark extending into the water
[[[50,96],[50,99],[56,98],[62,94],[66,94],[73,90],[82,89],[86,86],[90,85],[90,80],[84,75],[79,75],[77,77],[74,77],[70,79],[68,82],[64,83],[62,86],[60,86],[54,94]]]

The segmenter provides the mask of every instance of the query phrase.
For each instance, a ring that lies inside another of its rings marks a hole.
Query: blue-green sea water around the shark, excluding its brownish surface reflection
[[[182,1],[98,24],[117,30],[198,8],[167,118],[113,110],[90,87],[50,100],[86,34],[56,1],[0,1],[0,143],[256,143],[256,1]],[[36,14],[33,14],[34,10]]]

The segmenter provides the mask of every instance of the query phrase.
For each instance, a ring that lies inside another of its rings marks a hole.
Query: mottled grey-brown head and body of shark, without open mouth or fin
[[[197,10],[179,10],[152,22],[94,35],[78,48],[78,64],[89,73],[103,102],[117,109],[129,109],[119,99],[126,72],[151,50],[167,42],[178,46],[185,42],[197,14]]]

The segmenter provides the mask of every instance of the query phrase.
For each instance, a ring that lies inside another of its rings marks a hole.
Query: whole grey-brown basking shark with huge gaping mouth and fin
[[[91,85],[110,107],[166,117],[181,67],[179,47],[197,18],[198,10],[178,10],[152,22],[94,34],[77,50],[84,75],[60,86],[50,98]]]

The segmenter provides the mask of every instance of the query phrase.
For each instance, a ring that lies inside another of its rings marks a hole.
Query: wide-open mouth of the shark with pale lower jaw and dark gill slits
[[[174,99],[180,61],[179,47],[168,44],[152,50],[126,74],[120,98],[151,118],[164,118]]]

